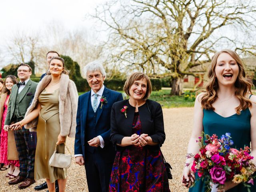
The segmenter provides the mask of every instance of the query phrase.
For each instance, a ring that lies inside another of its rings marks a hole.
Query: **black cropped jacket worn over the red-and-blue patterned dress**
[[[127,118],[124,113],[120,111],[124,106],[128,106]],[[156,146],[146,145],[145,147],[152,150],[159,150],[165,140],[164,119],[161,105],[158,102],[148,99],[145,104],[138,108],[138,110],[142,125],[142,133],[148,134],[154,142],[158,143]],[[131,106],[128,100],[116,102],[112,106],[110,140],[117,151],[122,151],[129,147],[121,147],[116,144],[121,144],[121,141],[125,136],[132,135],[134,112],[135,107]]]

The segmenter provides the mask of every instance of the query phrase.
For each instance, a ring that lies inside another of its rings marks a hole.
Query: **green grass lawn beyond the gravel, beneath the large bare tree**
[[[123,91],[119,91],[124,93]],[[79,92],[81,95],[84,92]],[[170,90],[153,91],[150,98],[159,102],[163,108],[192,107],[194,106],[194,93],[185,92],[182,96],[170,96]]]

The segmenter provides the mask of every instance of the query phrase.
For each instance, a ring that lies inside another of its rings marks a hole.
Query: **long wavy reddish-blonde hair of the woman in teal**
[[[216,54],[212,57],[211,62],[211,68],[208,71],[208,78],[210,79],[209,83],[206,85],[206,93],[202,96],[202,108],[208,109],[208,110],[214,110],[214,107],[212,104],[216,101],[218,98],[217,91],[218,91],[218,80],[216,78],[215,74],[215,67],[217,64],[218,56],[222,53],[229,54],[238,64],[238,76],[236,78],[235,82],[235,96],[240,101],[240,105],[236,107],[236,114],[240,114],[241,110],[245,110],[246,108],[250,107],[252,105],[252,102],[248,99],[247,94],[252,94],[252,83],[250,83],[245,78],[245,71],[244,66],[241,58],[238,56],[238,54],[232,50],[224,49],[220,52],[216,52]]]

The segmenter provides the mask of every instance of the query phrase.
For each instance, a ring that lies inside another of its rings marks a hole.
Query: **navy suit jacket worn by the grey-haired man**
[[[109,139],[111,108],[114,102],[123,100],[123,97],[121,93],[110,90],[106,88],[106,86],[104,88],[102,95],[106,97],[106,100],[108,101],[108,103],[104,104],[102,106],[102,109],[98,108],[98,114],[96,118],[96,133],[102,136],[105,146],[102,149],[100,148],[100,146],[98,146],[97,148],[103,153],[107,153],[106,150],[108,150],[110,147],[112,148],[112,144]],[[84,138],[86,134],[86,119],[87,119],[88,105],[89,104],[91,105],[90,97],[91,97],[91,91],[86,92],[79,96],[78,109],[77,109],[77,115],[76,115],[76,138],[75,138],[74,152],[75,154],[83,154],[84,158],[85,158],[84,145],[85,145],[85,142],[88,142],[88,141],[85,141]]]

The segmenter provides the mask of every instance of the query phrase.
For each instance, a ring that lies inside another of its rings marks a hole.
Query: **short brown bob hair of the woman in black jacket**
[[[127,78],[127,80],[124,84],[124,92],[130,96],[129,90],[130,90],[131,86],[134,84],[134,82],[138,81],[138,80],[143,80],[143,79],[146,79],[146,82],[147,82],[147,91],[146,91],[146,94],[145,94],[143,100],[148,99],[152,92],[152,86],[151,86],[149,77],[142,72],[135,72]]]

